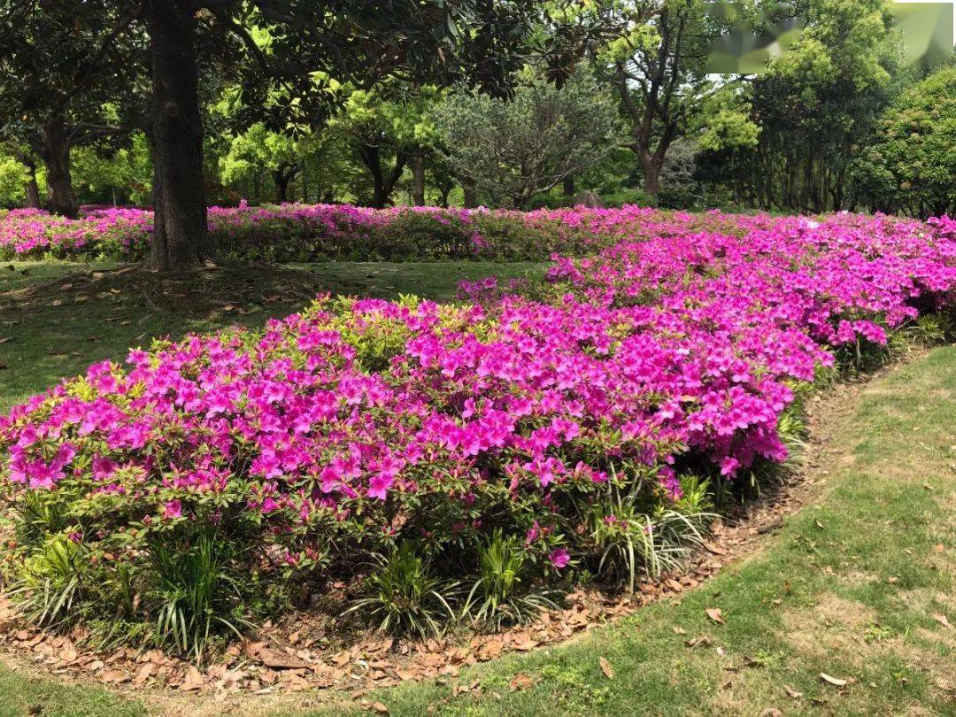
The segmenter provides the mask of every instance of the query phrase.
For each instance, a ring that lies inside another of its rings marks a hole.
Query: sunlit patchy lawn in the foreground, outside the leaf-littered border
[[[939,620],[956,618],[956,346],[892,366],[854,403],[811,469],[822,484],[817,501],[679,600],[576,641],[355,699],[306,692],[213,703],[184,695],[143,706],[2,665],[0,715],[36,706],[48,715],[120,715],[240,704],[253,714],[375,706],[391,714],[945,714],[956,689],[946,682],[956,664],[954,628]],[[719,608],[726,624],[708,608]],[[701,637],[709,643],[687,645]],[[528,686],[515,689],[515,675]]]

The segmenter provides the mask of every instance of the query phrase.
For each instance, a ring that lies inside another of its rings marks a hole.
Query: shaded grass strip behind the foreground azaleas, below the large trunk
[[[416,293],[446,300],[462,279],[544,272],[532,263],[329,262],[226,267],[173,281],[111,272],[116,269],[103,263],[0,265],[0,410],[93,361],[124,359],[130,347],[148,346],[153,337],[260,326],[270,316],[301,309],[316,293],[381,298]]]

